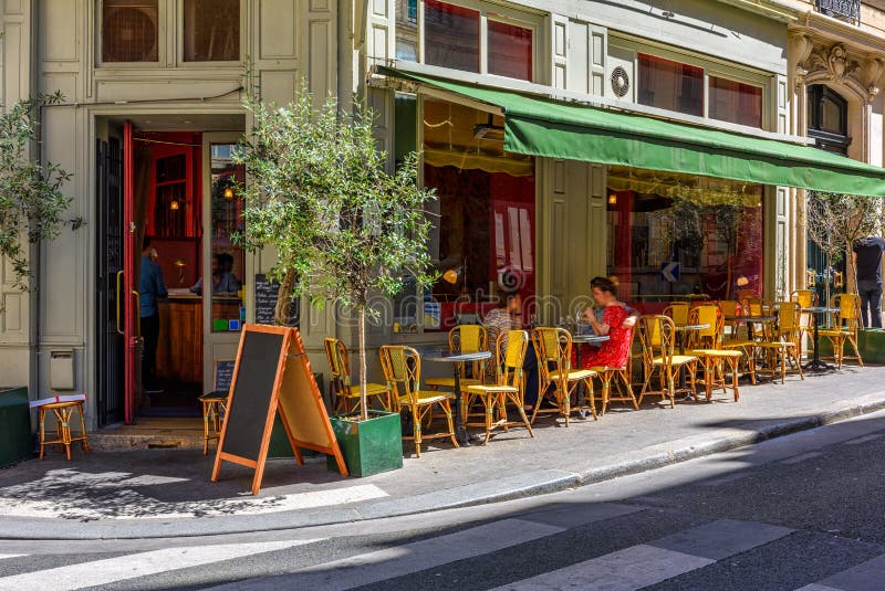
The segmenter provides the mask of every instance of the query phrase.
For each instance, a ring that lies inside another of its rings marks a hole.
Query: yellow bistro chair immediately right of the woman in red
[[[639,340],[643,345],[645,382],[639,392],[639,404],[646,394],[669,398],[670,408],[676,405],[676,378],[687,371],[691,379],[691,391],[696,392],[695,378],[698,358],[693,355],[674,355],[676,325],[668,316],[642,316],[638,323]],[[659,390],[652,390],[652,377],[657,372]]]

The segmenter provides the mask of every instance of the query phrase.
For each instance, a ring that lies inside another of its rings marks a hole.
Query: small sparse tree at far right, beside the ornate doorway
[[[809,192],[805,207],[805,229],[809,238],[826,255],[826,267],[840,262],[854,243],[881,228],[883,200],[842,193]],[[852,257],[848,270],[857,285],[857,270]],[[826,300],[830,300],[830,282],[826,282]]]

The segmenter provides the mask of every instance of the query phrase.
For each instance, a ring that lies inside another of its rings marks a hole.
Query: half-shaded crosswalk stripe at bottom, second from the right
[[[639,545],[501,585],[494,591],[596,588],[626,591],[655,584],[714,562],[709,558]]]

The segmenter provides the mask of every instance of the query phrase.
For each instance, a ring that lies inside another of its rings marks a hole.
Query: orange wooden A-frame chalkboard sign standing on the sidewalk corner
[[[304,463],[299,447],[315,450],[334,456],[347,475],[298,329],[248,324],[233,363],[212,482],[221,462],[232,462],[256,471],[252,494],[258,494],[277,413],[299,464]]]

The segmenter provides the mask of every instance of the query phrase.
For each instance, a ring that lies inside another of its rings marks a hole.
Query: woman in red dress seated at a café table
[[[593,331],[596,335],[608,335],[608,340],[598,348],[586,347],[582,349],[581,363],[584,369],[598,366],[623,368],[627,365],[627,359],[629,359],[633,323],[624,321],[628,314],[626,306],[617,299],[616,279],[594,277],[590,282],[590,291],[596,300],[596,306],[603,308],[602,321],[596,318],[592,309],[587,309],[584,316]]]

